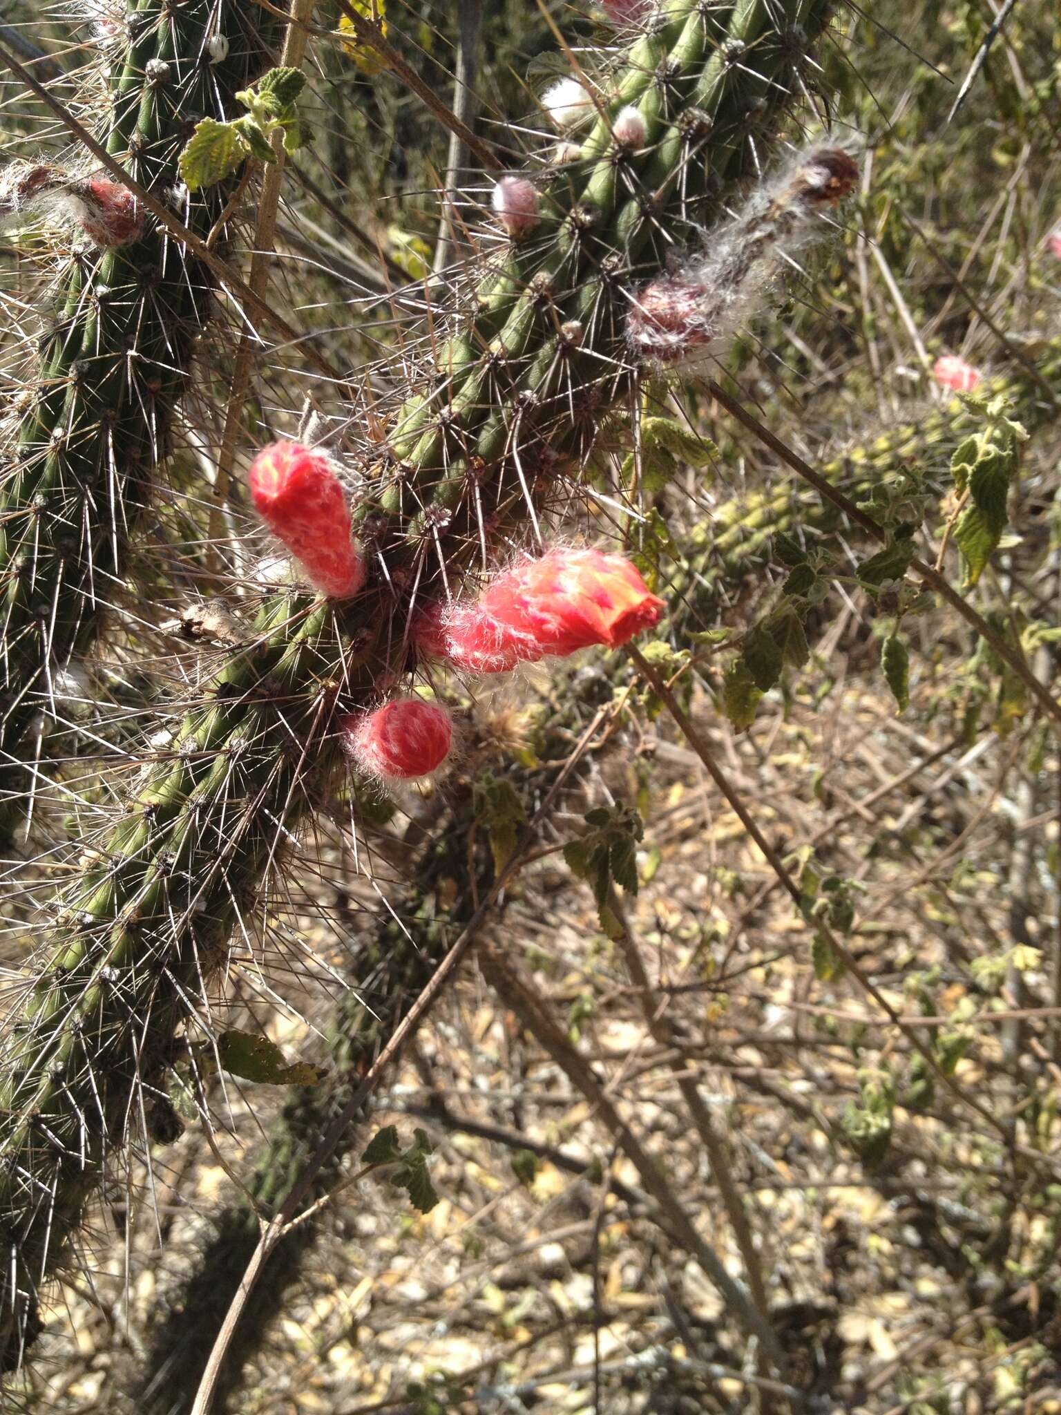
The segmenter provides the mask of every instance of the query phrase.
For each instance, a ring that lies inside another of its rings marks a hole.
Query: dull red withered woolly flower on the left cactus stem
[[[75,177],[47,163],[13,163],[0,177],[0,215],[52,216],[95,245],[124,246],[144,229],[136,197],[109,177]]]

